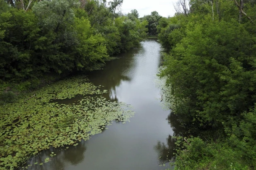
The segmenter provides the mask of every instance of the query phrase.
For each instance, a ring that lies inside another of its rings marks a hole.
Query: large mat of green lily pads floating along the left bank
[[[0,169],[15,169],[51,146],[77,145],[81,139],[100,133],[111,120],[128,121],[134,113],[125,104],[91,96],[104,92],[79,76],[1,106]],[[85,97],[76,104],[51,102],[77,95]],[[45,163],[48,161],[49,158]]]

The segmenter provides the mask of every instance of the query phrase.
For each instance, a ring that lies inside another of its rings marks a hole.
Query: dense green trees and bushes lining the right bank
[[[200,129],[179,151],[176,169],[255,169],[256,2],[241,2],[249,18],[233,0],[207,2],[191,0],[187,15],[162,18],[157,27],[170,50],[161,75],[172,114]]]

